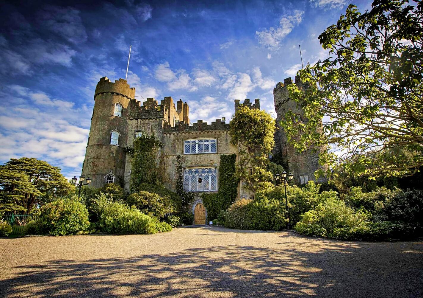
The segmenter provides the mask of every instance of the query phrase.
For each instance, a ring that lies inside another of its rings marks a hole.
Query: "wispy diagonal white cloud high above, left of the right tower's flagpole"
[[[291,33],[292,29],[302,21],[304,11],[294,10],[292,14],[284,15],[277,28],[269,28],[263,31],[256,31],[258,43],[269,50],[277,50],[282,39]]]

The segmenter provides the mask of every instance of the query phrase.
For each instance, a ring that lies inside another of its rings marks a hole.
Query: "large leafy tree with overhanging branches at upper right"
[[[328,175],[406,176],[423,165],[423,3],[415,4],[375,0],[364,14],[350,5],[319,36],[329,58],[299,70],[303,86],[288,85],[308,121],[288,111],[281,125],[299,151],[329,144],[320,154]]]

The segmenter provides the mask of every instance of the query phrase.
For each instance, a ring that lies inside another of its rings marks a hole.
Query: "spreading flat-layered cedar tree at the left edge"
[[[71,190],[60,168],[42,160],[22,157],[0,166],[0,208],[4,211],[30,212],[35,204]]]

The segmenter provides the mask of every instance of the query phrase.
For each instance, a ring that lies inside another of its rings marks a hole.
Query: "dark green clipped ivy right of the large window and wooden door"
[[[217,218],[217,214],[228,209],[237,195],[238,178],[236,172],[236,155],[221,155],[219,165],[219,189],[217,193],[203,194],[204,206],[209,220]]]

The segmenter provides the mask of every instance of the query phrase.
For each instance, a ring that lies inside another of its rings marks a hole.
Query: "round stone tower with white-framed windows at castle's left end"
[[[82,174],[99,188],[106,183],[124,182],[128,133],[128,105],[135,98],[135,88],[124,79],[110,82],[103,77],[97,83],[90,134]]]

